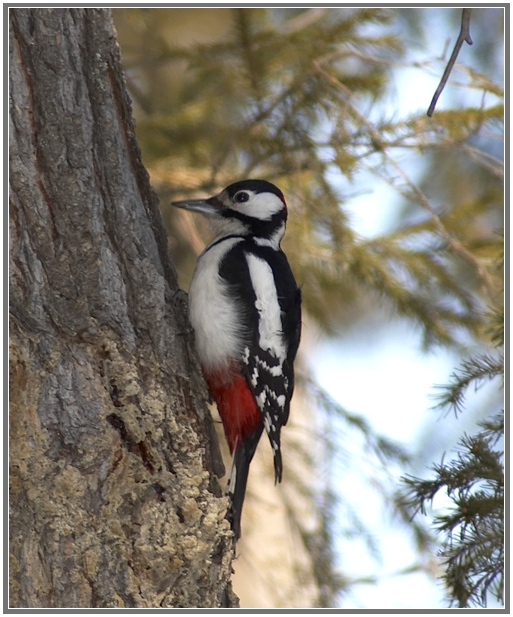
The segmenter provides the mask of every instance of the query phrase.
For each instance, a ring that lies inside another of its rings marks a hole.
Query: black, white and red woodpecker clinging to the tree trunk
[[[283,473],[280,431],[301,336],[301,291],[280,248],[287,204],[270,182],[243,180],[214,197],[173,205],[203,214],[214,232],[196,263],[189,317],[232,454],[227,518],[238,539],[249,466],[264,428],[275,482]]]

